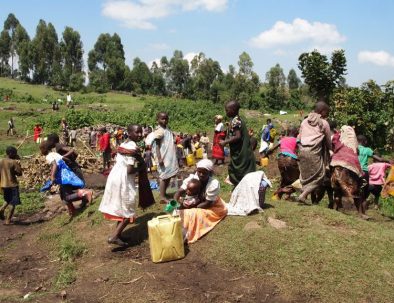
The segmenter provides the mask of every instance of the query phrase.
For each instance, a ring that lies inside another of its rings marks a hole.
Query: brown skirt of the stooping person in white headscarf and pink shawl
[[[334,167],[331,175],[331,186],[336,195],[360,198],[361,179],[347,168]]]

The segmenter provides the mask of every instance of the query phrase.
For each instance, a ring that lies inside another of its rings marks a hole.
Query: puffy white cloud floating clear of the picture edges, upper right
[[[345,40],[346,37],[338,32],[334,24],[311,23],[296,18],[292,23],[277,21],[272,28],[250,39],[250,44],[257,48],[270,48],[308,42],[324,47],[338,45]]]

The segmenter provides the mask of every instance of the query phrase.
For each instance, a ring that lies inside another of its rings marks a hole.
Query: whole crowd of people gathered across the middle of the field
[[[308,197],[318,203],[327,192],[329,207],[339,209],[343,197],[351,198],[360,215],[367,218],[367,198],[373,194],[375,203],[378,202],[385,172],[391,165],[374,153],[367,146],[366,138],[356,134],[353,127],[343,125],[337,129],[334,121],[328,121],[330,108],[326,103],[317,102],[301,124],[287,127],[279,140],[276,140],[277,131],[268,119],[262,129],[259,153],[255,153],[257,140],[254,132],[247,128],[239,111],[240,104],[230,101],[225,105],[228,122],[224,123],[221,115],[214,117],[212,145],[205,132],[174,134],[169,128],[166,112],[157,114],[155,127],[130,125],[127,129],[117,127],[109,131],[105,127],[90,128],[89,145],[102,153],[103,171],[109,174],[99,211],[106,219],[117,222],[108,243],[126,245],[122,231],[135,220],[137,197],[143,208],[154,203],[147,174],[157,169],[159,200],[166,204],[172,198],[167,194],[170,181],[173,178],[178,180],[180,168],[190,164],[190,156],[199,159],[196,170],[183,180],[173,196],[180,204],[177,212],[183,223],[185,240],[189,243],[212,230],[226,215],[248,215],[262,210],[266,191],[272,184],[269,171],[256,170],[256,163],[260,163],[256,155],[264,158],[276,149],[279,149],[277,164],[281,181],[275,197],[290,199],[292,193],[300,190],[299,203],[306,203]],[[40,144],[41,153],[51,165],[51,182],[61,183],[57,173],[68,168],[84,183],[76,161],[78,155],[73,149],[76,135],[69,131],[65,120],[61,126],[66,144],[61,144],[56,134],[48,135]],[[230,158],[228,182],[233,185],[229,203],[220,198],[220,182],[214,176],[215,165],[224,164],[227,152]],[[16,176],[22,172],[16,150],[10,147],[7,156],[0,162],[1,187],[17,188]],[[368,165],[370,158],[374,163]],[[138,187],[135,183],[137,175]],[[76,212],[74,201],[81,200],[84,207],[92,200],[91,190],[73,184],[60,184],[60,195],[71,216]],[[6,204],[0,210],[1,217],[8,205],[15,207],[20,203],[16,189],[5,190],[4,198]],[[7,217],[8,223],[10,220]]]

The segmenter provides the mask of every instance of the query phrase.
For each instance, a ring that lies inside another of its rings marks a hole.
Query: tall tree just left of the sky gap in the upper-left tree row
[[[83,45],[80,34],[66,27],[60,41],[60,50],[62,53],[63,77],[65,86],[71,90],[82,88],[83,77]]]

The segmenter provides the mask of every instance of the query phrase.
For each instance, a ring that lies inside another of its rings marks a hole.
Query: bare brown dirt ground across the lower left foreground
[[[37,216],[37,215],[36,215]],[[183,260],[163,264],[150,261],[146,221],[140,217],[126,231],[130,247],[121,250],[105,244],[113,226],[105,222],[90,228],[86,221],[75,226],[87,253],[76,262],[77,279],[54,290],[60,262],[50,257],[39,240],[46,224],[0,227],[0,302],[287,302],[274,285],[205,261],[193,246]],[[29,218],[25,218],[28,220]]]

